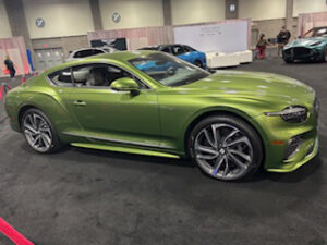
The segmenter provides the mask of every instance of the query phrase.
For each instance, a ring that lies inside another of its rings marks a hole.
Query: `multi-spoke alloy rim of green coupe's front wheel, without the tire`
[[[253,161],[250,138],[233,125],[210,124],[194,142],[195,159],[209,175],[220,180],[235,180],[249,172]]]

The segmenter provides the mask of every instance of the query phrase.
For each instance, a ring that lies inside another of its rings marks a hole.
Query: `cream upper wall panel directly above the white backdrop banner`
[[[215,22],[225,19],[225,0],[172,0],[173,25]]]

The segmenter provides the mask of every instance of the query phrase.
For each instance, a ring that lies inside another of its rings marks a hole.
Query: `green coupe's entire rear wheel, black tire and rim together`
[[[21,127],[29,147],[39,154],[52,154],[63,147],[50,120],[39,109],[25,111]]]

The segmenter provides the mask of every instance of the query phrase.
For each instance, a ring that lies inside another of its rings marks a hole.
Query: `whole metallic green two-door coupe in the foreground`
[[[71,144],[191,158],[223,181],[259,167],[290,172],[318,150],[311,87],[267,73],[211,74],[162,52],[64,63],[11,90],[5,109],[38,152]]]

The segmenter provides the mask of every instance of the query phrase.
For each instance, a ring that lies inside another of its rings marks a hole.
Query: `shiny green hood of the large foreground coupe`
[[[183,89],[290,106],[313,103],[315,99],[313,88],[296,79],[259,72],[218,71],[204,79],[183,86]]]

